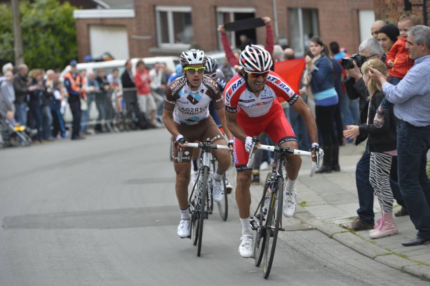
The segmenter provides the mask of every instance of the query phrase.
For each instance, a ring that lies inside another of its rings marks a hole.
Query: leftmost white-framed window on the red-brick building
[[[191,7],[155,7],[157,41],[160,48],[188,48],[193,43]]]

